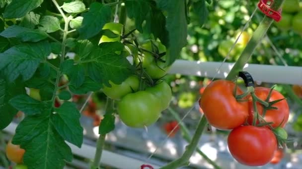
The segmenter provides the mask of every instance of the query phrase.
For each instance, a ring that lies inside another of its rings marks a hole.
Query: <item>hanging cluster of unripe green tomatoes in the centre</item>
[[[119,38],[101,37],[101,42],[121,40],[122,27],[118,23],[108,23],[103,30],[109,29]],[[124,56],[133,56],[136,72],[121,84],[109,82],[110,86],[103,86],[107,97],[117,101],[120,120],[129,127],[147,127],[155,123],[161,112],[170,103],[172,91],[170,86],[160,80],[169,67],[165,66],[166,48],[157,41],[146,41],[141,45],[133,41],[123,40]]]

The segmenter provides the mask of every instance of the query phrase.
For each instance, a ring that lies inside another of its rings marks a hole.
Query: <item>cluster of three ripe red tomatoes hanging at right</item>
[[[231,130],[228,149],[241,164],[269,163],[278,144],[287,139],[283,127],[289,118],[289,106],[274,89],[258,86],[243,92],[231,81],[216,80],[204,89],[199,104],[210,125]]]

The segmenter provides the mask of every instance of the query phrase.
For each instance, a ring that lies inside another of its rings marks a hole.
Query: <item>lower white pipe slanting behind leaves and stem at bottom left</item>
[[[17,124],[10,123],[6,128],[3,130],[9,132],[10,134],[15,134],[15,129]],[[76,147],[75,145],[68,143],[72,149],[73,154],[77,156],[93,159],[96,148],[87,144],[82,144],[81,148]],[[140,161],[137,159],[133,159],[130,157],[126,157],[124,155],[116,154],[107,150],[103,150],[101,163],[107,166],[111,166],[118,169],[141,169],[141,165],[148,164],[144,161]],[[159,167],[153,164],[151,165],[154,169],[158,169]],[[88,167],[87,167],[88,168]]]

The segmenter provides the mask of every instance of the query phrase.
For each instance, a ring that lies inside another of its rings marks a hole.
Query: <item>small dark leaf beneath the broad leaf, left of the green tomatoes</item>
[[[94,82],[89,77],[85,77],[84,83],[79,87],[76,87],[74,84],[69,85],[69,89],[71,92],[75,94],[86,94],[89,91],[97,91],[102,88],[100,83]]]

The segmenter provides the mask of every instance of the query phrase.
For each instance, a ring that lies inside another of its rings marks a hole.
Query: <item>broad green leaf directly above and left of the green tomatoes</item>
[[[121,84],[130,76],[133,68],[126,57],[116,54],[123,49],[124,45],[120,42],[103,42],[80,60],[84,62],[88,76],[95,82],[110,86],[110,80],[114,84]]]

